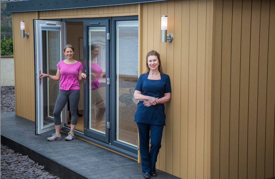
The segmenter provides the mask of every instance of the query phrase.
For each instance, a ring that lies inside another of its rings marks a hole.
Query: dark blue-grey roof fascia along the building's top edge
[[[167,0],[30,0],[7,2],[7,12],[27,12],[115,6]]]

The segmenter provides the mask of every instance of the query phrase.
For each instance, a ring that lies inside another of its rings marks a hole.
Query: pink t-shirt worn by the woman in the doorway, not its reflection
[[[60,70],[60,90],[79,90],[78,72],[83,69],[81,62],[66,64],[64,60],[56,65]]]

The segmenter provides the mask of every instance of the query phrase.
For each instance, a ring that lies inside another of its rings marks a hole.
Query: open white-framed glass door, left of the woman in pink
[[[57,63],[61,61],[61,48],[65,46],[65,26],[61,21],[34,20],[35,40],[35,88],[36,88],[36,134],[55,129],[53,111],[59,92],[59,81],[41,78],[41,73],[56,75]],[[65,112],[61,112],[64,126]]]

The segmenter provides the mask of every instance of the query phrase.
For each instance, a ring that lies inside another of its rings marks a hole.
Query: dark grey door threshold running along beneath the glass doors
[[[61,127],[60,128],[60,131],[63,132],[63,133],[69,133],[70,132],[70,128],[68,127]],[[105,148],[109,151],[112,151],[114,153],[117,153],[117,154],[120,154],[120,155],[123,155],[125,157],[128,157],[132,160],[135,160],[135,161],[138,161],[138,154],[137,153],[134,153],[134,152],[130,152],[130,151],[127,151],[123,148],[120,148],[120,147],[117,147],[117,146],[114,146],[114,145],[111,145],[111,144],[107,144],[105,142],[102,142],[100,140],[97,140],[97,139],[94,139],[92,137],[88,137],[82,133],[79,133],[78,131],[75,131],[74,133],[74,137],[77,137],[81,140],[84,140],[86,142],[89,142],[91,144],[94,144],[96,146],[99,146],[99,147],[102,147],[102,148]]]

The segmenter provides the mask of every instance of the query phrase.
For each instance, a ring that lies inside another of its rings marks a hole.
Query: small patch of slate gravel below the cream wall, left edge
[[[15,112],[14,86],[1,86],[1,112]]]

